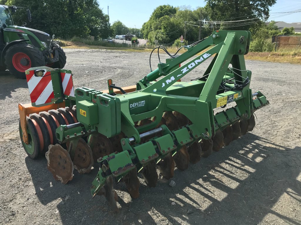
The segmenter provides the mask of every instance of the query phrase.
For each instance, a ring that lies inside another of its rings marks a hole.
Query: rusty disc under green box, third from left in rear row
[[[113,153],[112,143],[110,139],[99,133],[90,135],[88,146],[90,146],[92,150],[92,155],[95,163],[97,162],[97,159]]]

